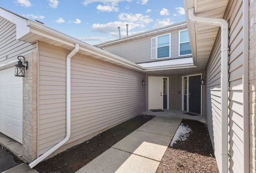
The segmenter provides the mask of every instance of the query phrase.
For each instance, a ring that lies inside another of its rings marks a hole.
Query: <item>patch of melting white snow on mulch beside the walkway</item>
[[[176,144],[176,141],[185,141],[191,131],[192,130],[187,125],[181,123],[181,125],[178,127],[176,133],[173,136],[173,140],[170,144],[170,147],[172,147],[173,144]]]

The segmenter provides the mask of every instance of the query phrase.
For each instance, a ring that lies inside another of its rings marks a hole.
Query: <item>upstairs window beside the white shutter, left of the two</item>
[[[171,34],[157,36],[157,58],[169,58]]]

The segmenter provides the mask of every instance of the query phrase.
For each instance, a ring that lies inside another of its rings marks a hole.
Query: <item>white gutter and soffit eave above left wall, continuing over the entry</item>
[[[0,8],[0,16],[16,24],[16,39],[24,42],[35,43],[37,40],[39,40],[70,51],[74,50],[75,44],[79,44],[80,49],[78,53],[144,73],[163,73],[163,70],[168,70],[169,74],[179,74],[183,72],[182,69],[187,72],[187,69],[185,68],[195,69],[193,71],[196,71],[197,68],[197,66],[194,66],[193,63],[186,64],[186,66],[184,66],[184,64],[178,64],[144,68],[122,57],[114,55],[113,53],[97,48],[96,46],[85,43],[55,29],[49,28],[44,24],[22,17],[6,9]]]

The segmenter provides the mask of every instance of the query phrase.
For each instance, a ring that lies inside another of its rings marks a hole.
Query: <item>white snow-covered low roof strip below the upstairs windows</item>
[[[170,59],[165,61],[154,61],[150,63],[141,63],[138,64],[144,68],[150,67],[164,67],[164,66],[174,66],[174,65],[183,65],[183,64],[193,64],[193,58],[180,58],[180,59]]]

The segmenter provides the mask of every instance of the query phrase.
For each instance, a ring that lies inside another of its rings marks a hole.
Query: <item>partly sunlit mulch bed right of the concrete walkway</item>
[[[182,120],[192,131],[187,140],[168,147],[156,173],[218,173],[210,135],[206,124]]]

